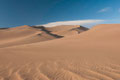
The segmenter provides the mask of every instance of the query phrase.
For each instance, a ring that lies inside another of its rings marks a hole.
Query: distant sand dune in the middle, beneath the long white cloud
[[[51,31],[54,34],[58,34],[66,37],[66,36],[79,34],[83,31],[87,31],[88,28],[79,25],[61,25],[61,26],[47,28],[47,30]]]

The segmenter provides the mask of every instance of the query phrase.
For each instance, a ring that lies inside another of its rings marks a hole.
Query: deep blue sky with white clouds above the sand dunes
[[[0,0],[0,27],[120,23],[120,0]]]

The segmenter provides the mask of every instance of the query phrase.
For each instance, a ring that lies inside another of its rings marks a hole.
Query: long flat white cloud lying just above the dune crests
[[[99,23],[104,20],[74,20],[74,21],[59,21],[59,22],[51,22],[48,24],[44,24],[43,26],[46,27],[53,27],[53,26],[59,26],[59,25],[87,25],[87,24],[93,24],[93,23]],[[39,26],[39,25],[37,25]]]

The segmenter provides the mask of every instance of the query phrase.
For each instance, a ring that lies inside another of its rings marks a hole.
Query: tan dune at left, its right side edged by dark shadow
[[[55,39],[54,36],[30,26],[0,30],[0,47],[8,47]]]

